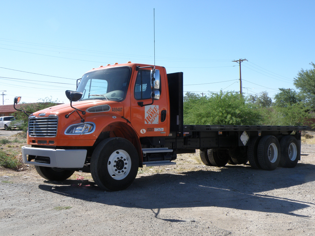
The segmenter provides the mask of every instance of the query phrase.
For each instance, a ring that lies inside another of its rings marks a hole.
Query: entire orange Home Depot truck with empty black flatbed
[[[138,168],[176,164],[200,150],[208,166],[274,170],[301,158],[307,126],[184,125],[183,73],[136,63],[101,66],[66,91],[70,104],[29,115],[23,161],[48,180],[90,172],[102,189],[127,188]],[[14,98],[14,105],[20,97]]]

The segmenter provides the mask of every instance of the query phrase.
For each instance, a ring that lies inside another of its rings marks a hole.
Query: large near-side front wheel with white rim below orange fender
[[[92,178],[104,190],[119,191],[129,187],[137,176],[138,168],[137,150],[124,138],[103,140],[91,156]]]

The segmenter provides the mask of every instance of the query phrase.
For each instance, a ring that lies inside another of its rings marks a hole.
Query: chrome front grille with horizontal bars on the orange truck
[[[58,127],[58,117],[49,115],[48,117],[31,117],[28,120],[28,134],[31,137],[56,137]]]

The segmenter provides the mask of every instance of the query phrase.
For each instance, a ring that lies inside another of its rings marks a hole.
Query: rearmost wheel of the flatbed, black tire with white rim
[[[300,145],[295,137],[285,136],[280,141],[280,165],[287,168],[293,168],[301,156]]]

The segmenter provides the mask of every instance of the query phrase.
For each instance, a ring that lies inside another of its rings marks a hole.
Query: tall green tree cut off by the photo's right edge
[[[315,64],[310,63],[313,69],[299,71],[294,79],[294,86],[300,89],[301,94],[304,96],[305,103],[315,110]]]

